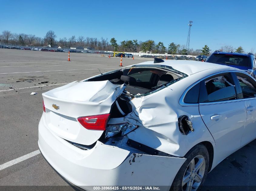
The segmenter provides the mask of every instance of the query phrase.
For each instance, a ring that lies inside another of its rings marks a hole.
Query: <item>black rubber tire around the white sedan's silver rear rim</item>
[[[199,191],[204,184],[204,181],[207,177],[208,168],[209,168],[209,153],[207,148],[203,144],[195,145],[193,148],[191,148],[188,153],[184,156],[184,158],[187,158],[187,160],[184,162],[184,164],[181,166],[180,170],[176,174],[170,191],[182,191],[181,183],[182,179],[184,177],[185,171],[188,168],[188,165],[190,164],[191,160],[194,159],[197,155],[202,155],[205,160],[205,171],[204,176],[202,178],[202,181],[200,185],[198,186],[197,191]]]

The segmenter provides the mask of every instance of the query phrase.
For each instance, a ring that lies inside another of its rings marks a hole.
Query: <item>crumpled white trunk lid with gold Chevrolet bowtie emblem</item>
[[[82,81],[45,92],[42,94],[46,108],[45,125],[68,141],[91,145],[104,131],[86,129],[77,118],[110,113],[112,104],[124,88],[124,85],[115,85],[108,80]]]

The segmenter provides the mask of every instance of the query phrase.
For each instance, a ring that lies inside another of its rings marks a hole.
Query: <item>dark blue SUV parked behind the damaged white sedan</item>
[[[256,59],[252,53],[242,54],[215,51],[208,58],[207,62],[239,68],[254,78],[256,77]]]

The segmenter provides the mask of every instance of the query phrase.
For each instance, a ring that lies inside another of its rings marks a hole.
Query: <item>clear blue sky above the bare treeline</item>
[[[242,46],[256,52],[256,1],[15,1],[1,2],[0,32],[44,37],[53,30],[57,39],[75,35],[122,40],[154,40],[210,49]]]

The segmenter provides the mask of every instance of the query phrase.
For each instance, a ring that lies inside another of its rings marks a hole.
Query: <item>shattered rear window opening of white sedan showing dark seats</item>
[[[181,77],[183,75],[168,69],[131,67],[91,78],[88,81],[109,80],[113,84],[125,84],[125,90],[131,94],[145,94]]]

